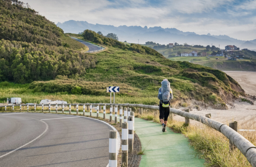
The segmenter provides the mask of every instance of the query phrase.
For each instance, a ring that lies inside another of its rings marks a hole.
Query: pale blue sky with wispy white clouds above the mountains
[[[256,39],[256,0],[23,0],[55,22],[161,26]]]

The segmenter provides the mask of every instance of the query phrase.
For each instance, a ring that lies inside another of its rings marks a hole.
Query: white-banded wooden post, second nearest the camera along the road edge
[[[128,123],[122,123],[122,166],[128,167]]]

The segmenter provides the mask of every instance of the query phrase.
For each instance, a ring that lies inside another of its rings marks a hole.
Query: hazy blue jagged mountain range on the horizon
[[[86,29],[95,32],[100,31],[102,34],[108,33],[117,34],[119,41],[127,41],[130,43],[144,44],[148,41],[153,41],[160,44],[168,44],[177,42],[180,44],[188,43],[195,45],[215,45],[216,47],[224,49],[226,45],[236,45],[240,49],[256,49],[256,39],[252,41],[242,41],[231,38],[227,35],[198,35],[194,32],[183,32],[176,28],[162,28],[162,27],[140,27],[140,26],[112,26],[101,24],[90,24],[86,21],[69,20],[64,23],[58,23],[58,27],[64,30],[65,33],[78,34]]]

